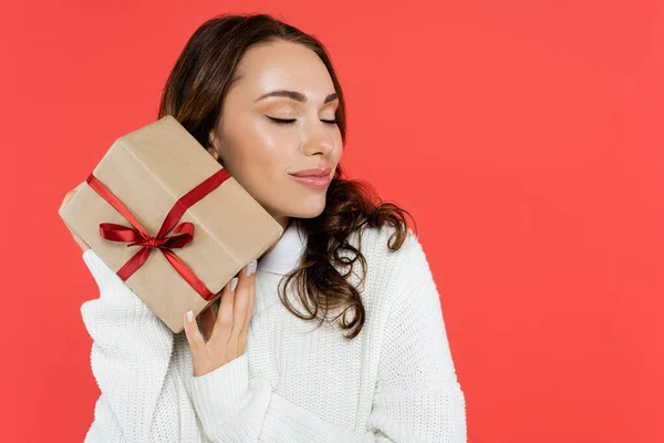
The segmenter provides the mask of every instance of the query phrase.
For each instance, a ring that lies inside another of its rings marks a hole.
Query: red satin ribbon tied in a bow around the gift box
[[[181,196],[164,219],[159,233],[152,237],[145,228],[138,223],[136,217],[126,208],[125,205],[98,181],[93,174],[90,174],[85,181],[102,198],[104,198],[111,206],[120,212],[133,226],[116,225],[114,223],[102,223],[100,224],[100,235],[111,241],[128,243],[127,247],[142,246],[141,250],[136,253],[118,271],[120,278],[126,280],[134,274],[149,256],[153,248],[157,248],[164,254],[164,257],[170,262],[175,270],[198,292],[206,301],[209,301],[215,293],[212,293],[203,281],[196,277],[194,271],[187,267],[180,260],[173,250],[174,248],[181,248],[189,244],[194,239],[194,224],[189,222],[183,222],[176,226],[185,212],[195,205],[203,197],[208,195],[212,189],[217,188],[224,182],[230,178],[230,174],[227,169],[221,168],[208,177],[205,182],[200,183],[194,189]],[[173,229],[175,227],[175,229]],[[173,229],[175,235],[168,236],[167,234]]]

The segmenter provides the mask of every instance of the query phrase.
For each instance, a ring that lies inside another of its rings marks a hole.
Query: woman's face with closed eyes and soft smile
[[[277,42],[248,50],[238,70],[210,154],[283,227],[319,216],[343,148],[325,65],[301,44]],[[307,169],[324,177],[295,176]]]

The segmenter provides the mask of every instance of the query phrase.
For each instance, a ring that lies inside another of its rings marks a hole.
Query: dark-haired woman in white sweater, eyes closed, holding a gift
[[[209,20],[168,78],[167,114],[284,234],[177,334],[75,236],[100,288],[81,307],[102,392],[85,441],[466,441],[407,212],[342,178],[344,101],[323,45],[264,14]]]

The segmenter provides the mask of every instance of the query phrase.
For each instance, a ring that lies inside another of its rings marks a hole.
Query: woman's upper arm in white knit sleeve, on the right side
[[[466,442],[466,402],[438,290],[417,238],[409,234],[403,248],[369,427],[384,441]]]

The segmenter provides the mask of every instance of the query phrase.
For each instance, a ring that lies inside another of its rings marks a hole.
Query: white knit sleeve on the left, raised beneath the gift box
[[[83,260],[100,289],[81,306],[101,390],[85,442],[200,442],[173,331],[92,249]]]

